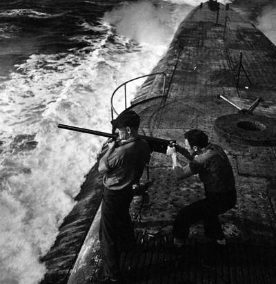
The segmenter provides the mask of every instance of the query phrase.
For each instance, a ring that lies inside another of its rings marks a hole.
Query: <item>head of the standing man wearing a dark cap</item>
[[[115,133],[119,134],[119,139],[126,140],[138,134],[140,117],[135,111],[123,111],[111,124]]]

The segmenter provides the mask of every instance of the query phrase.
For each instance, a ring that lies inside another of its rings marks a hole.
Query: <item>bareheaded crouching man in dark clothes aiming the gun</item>
[[[199,174],[204,183],[205,198],[179,211],[172,229],[174,244],[176,247],[184,245],[190,226],[202,220],[205,236],[224,245],[226,240],[218,216],[233,208],[237,201],[233,169],[221,146],[208,142],[208,135],[203,131],[192,129],[184,134],[184,138],[186,153],[184,148],[173,145],[168,146],[167,155],[172,158],[177,179]],[[186,167],[179,163],[178,149],[190,160]]]

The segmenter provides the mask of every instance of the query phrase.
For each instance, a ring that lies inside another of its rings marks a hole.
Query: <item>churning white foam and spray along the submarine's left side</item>
[[[133,5],[141,10],[145,4]],[[148,7],[152,14],[144,20],[155,29],[158,46],[143,38],[139,19],[132,21],[131,35],[117,25],[128,23],[133,12],[126,4],[103,17],[97,39],[72,37],[86,41],[85,48],[32,55],[1,83],[0,283],[32,284],[43,278],[46,267],[39,258],[55,242],[105,140],[57,129],[57,124],[110,132],[112,92],[128,79],[150,73],[166,50],[177,19],[173,10]],[[83,29],[89,25],[83,23]],[[140,84],[128,86],[128,104]],[[115,108],[124,110],[120,92]],[[35,143],[28,147],[32,139]],[[20,147],[14,143],[19,140]]]

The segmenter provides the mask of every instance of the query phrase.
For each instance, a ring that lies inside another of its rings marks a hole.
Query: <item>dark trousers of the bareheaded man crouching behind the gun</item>
[[[182,208],[175,219],[172,234],[176,238],[188,238],[190,226],[203,221],[205,235],[221,240],[224,232],[219,222],[219,215],[233,208],[236,204],[235,192],[213,195],[193,202]]]

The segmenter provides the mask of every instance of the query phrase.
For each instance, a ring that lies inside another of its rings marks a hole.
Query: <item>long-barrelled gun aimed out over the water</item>
[[[67,129],[67,130],[77,131],[81,133],[88,133],[92,135],[103,136],[106,138],[111,138],[112,140],[116,140],[118,137],[117,134],[95,131],[91,129],[82,129],[80,127],[70,126],[66,124],[57,124],[57,127],[59,129]],[[155,138],[155,137],[144,136],[144,135],[139,135],[139,138],[144,139],[148,142],[148,145],[150,146],[150,151],[157,152],[157,153],[164,153],[164,154],[166,154],[168,146],[173,146],[173,144],[176,143],[175,140],[166,140],[166,139]],[[182,148],[181,146],[177,145],[177,151],[179,151],[179,153],[184,155],[188,160],[191,160],[191,156],[185,148]]]

